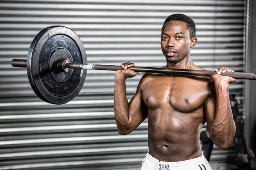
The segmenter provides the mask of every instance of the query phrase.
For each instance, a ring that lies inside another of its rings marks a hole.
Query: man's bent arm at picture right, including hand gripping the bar
[[[232,115],[229,101],[229,83],[236,80],[232,77],[219,75],[229,68],[216,69],[217,74],[211,76],[210,82],[214,84],[211,96],[205,103],[205,115],[211,139],[214,144],[223,150],[231,147],[236,125]]]

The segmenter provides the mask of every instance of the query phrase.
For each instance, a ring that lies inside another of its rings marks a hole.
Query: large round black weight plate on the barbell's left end
[[[34,38],[27,55],[27,75],[34,92],[51,104],[65,104],[78,95],[86,70],[60,72],[57,62],[87,64],[85,48],[78,35],[64,26],[50,26]]]

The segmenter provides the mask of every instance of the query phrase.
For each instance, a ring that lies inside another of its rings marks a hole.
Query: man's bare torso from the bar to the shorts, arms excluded
[[[142,83],[150,155],[161,161],[199,157],[209,78],[147,74]]]

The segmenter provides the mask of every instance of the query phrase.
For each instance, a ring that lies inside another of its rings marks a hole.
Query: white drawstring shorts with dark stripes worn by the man
[[[211,166],[203,154],[186,161],[164,162],[155,159],[148,152],[141,163],[141,170],[211,170]]]

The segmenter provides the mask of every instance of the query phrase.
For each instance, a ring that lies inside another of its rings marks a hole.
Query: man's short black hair
[[[187,23],[187,28],[189,29],[190,38],[195,38],[195,22],[188,17],[187,15],[176,13],[173,15],[170,15],[166,18],[164,21],[164,24],[168,21],[182,21]],[[164,24],[162,26],[162,29],[164,27]]]

